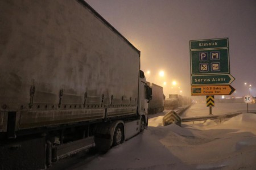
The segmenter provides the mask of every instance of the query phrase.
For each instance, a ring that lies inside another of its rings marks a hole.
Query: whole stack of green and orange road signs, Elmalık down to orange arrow
[[[230,75],[228,38],[191,40],[189,47],[192,96],[231,95],[234,88],[228,84],[235,78]]]

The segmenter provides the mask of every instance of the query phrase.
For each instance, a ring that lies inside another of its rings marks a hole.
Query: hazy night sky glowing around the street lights
[[[141,51],[141,69],[148,82],[163,86],[164,95],[191,95],[189,40],[228,37],[230,74],[236,78],[232,96],[249,94],[250,84],[256,96],[255,0],[86,2]]]

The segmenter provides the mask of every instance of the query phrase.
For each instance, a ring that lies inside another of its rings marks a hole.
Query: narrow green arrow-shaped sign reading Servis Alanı
[[[230,74],[192,75],[191,85],[231,84],[235,78]]]

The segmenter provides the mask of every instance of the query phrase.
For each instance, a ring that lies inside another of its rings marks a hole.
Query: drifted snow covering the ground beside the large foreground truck
[[[162,126],[150,118],[142,134],[73,169],[255,169],[256,114],[223,123]]]

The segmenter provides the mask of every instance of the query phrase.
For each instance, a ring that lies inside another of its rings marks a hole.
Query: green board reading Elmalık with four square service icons
[[[228,38],[190,41],[191,75],[230,74]]]

